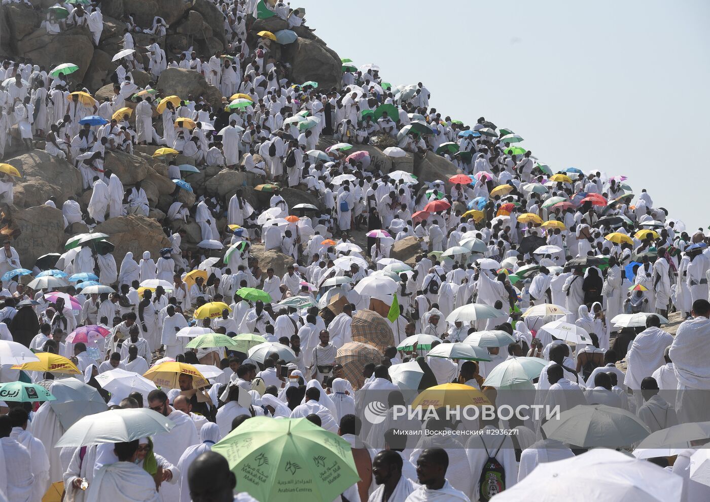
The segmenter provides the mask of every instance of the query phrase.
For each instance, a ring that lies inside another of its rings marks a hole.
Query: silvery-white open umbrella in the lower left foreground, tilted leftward
[[[148,408],[109,410],[77,420],[60,437],[55,447],[129,442],[141,437],[168,433],[173,427],[173,420]]]

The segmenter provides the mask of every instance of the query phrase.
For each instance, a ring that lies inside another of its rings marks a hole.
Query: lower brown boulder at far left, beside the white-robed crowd
[[[20,262],[31,269],[38,257],[48,252],[61,252],[67,235],[64,233],[64,217],[60,209],[52,206],[34,206],[13,209],[11,225],[20,230],[15,249]]]

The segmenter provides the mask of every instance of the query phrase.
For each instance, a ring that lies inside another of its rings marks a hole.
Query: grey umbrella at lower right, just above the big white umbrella
[[[551,418],[542,430],[550,439],[577,447],[618,448],[643,440],[648,427],[633,413],[603,404],[577,405]]]

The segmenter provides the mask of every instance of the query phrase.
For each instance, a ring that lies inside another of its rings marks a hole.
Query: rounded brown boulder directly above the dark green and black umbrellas
[[[114,259],[117,264],[129,251],[137,258],[143,255],[143,251],[150,251],[153,257],[158,257],[160,249],[170,247],[170,240],[165,237],[160,223],[146,216],[131,214],[111,218],[99,223],[94,231],[108,234],[107,240],[116,245]]]

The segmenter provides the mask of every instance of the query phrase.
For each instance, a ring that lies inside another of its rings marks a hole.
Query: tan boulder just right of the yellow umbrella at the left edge
[[[15,185],[14,203],[18,207],[39,206],[51,196],[61,206],[69,196],[82,189],[82,176],[78,169],[66,160],[53,157],[47,152],[33,150],[7,161],[23,175]]]

